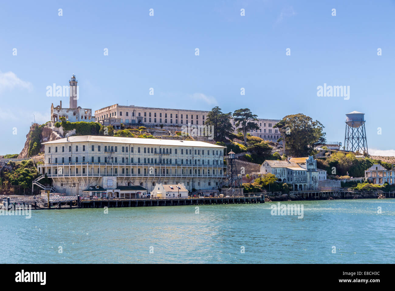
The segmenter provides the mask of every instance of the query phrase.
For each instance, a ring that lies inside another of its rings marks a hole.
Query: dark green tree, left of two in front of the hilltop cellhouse
[[[230,117],[231,112],[223,113],[218,106],[211,109],[207,114],[204,124],[214,127],[214,141],[225,141],[226,137],[229,137],[233,132]]]

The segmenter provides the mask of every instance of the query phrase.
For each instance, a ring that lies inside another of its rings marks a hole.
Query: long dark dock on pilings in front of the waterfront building
[[[265,203],[264,196],[81,200],[81,208]]]

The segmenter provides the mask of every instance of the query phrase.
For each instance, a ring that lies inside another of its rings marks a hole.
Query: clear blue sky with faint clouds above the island
[[[385,0],[3,1],[0,154],[22,150],[33,114],[46,122],[59,103],[46,87],[68,86],[74,73],[83,108],[301,112],[324,124],[328,141],[344,141],[345,114],[357,110],[370,152],[394,155],[393,15]],[[350,86],[350,99],[317,97],[324,83]]]

